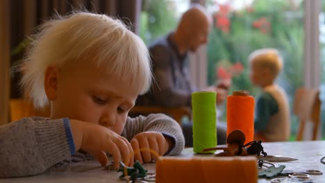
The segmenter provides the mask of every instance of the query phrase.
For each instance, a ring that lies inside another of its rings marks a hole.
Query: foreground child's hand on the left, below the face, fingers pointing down
[[[94,155],[102,166],[108,164],[106,153],[113,155],[114,166],[119,162],[126,166],[133,165],[133,149],[124,137],[101,125],[84,121],[70,120],[76,150],[85,150]]]

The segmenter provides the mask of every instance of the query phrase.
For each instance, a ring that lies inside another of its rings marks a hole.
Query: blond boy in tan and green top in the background
[[[283,59],[276,49],[259,49],[249,55],[251,82],[262,90],[255,107],[256,140],[288,141],[290,137],[288,97],[276,84],[282,68]]]

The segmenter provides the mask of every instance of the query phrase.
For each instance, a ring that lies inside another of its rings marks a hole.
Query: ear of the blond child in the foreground
[[[44,89],[47,98],[50,101],[56,100],[56,93],[58,89],[58,71],[54,67],[47,67],[45,71]]]

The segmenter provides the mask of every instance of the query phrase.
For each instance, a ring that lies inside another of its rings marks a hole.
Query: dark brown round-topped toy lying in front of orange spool
[[[234,130],[227,137],[227,145],[220,145],[215,148],[206,148],[203,151],[210,150],[224,150],[222,153],[218,153],[215,156],[247,156],[247,155],[260,155],[266,156],[264,152],[262,141],[251,141],[244,145],[246,137],[240,130]],[[249,146],[248,148],[245,148]]]

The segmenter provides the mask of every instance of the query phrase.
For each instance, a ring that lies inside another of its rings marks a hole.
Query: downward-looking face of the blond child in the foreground
[[[64,67],[58,72],[51,119],[69,117],[122,134],[128,110],[138,96],[128,86],[89,63]]]

